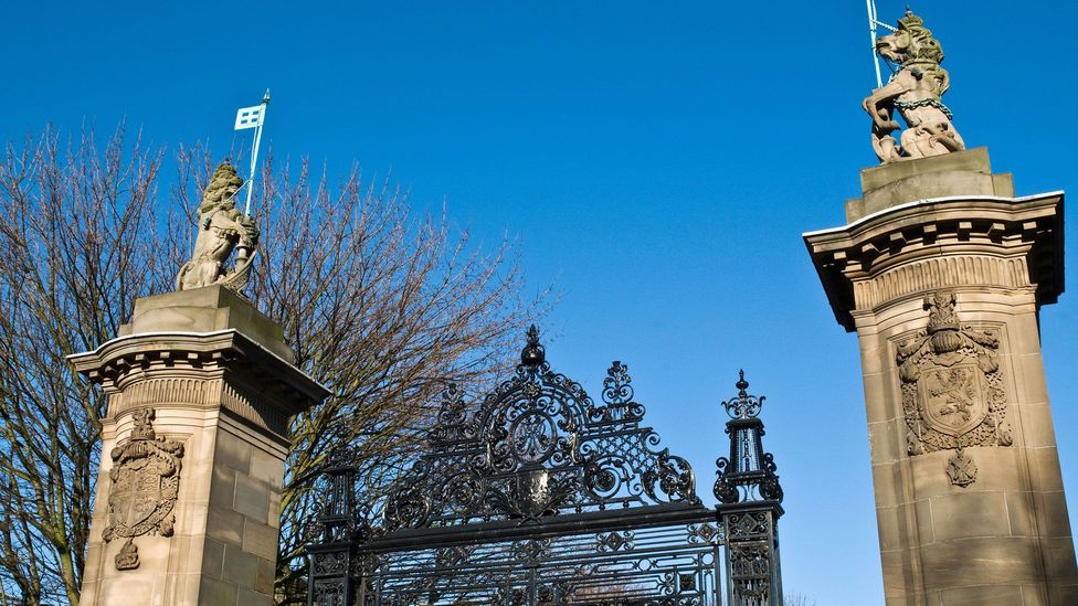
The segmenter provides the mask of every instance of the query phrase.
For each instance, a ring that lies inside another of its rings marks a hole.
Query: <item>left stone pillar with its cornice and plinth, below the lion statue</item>
[[[327,394],[281,327],[207,287],[139,299],[70,359],[108,395],[82,604],[272,604],[288,419]],[[180,456],[159,477],[161,445]]]

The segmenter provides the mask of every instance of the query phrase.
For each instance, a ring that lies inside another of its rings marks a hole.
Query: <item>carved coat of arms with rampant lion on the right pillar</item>
[[[976,480],[970,446],[1011,446],[1007,398],[1000,372],[1000,340],[959,322],[954,293],[924,300],[928,328],[898,347],[907,451],[955,450],[948,477],[955,486]]]

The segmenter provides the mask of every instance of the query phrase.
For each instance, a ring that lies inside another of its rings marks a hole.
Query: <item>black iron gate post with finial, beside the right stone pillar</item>
[[[730,421],[730,456],[716,461],[716,510],[726,531],[727,600],[730,606],[782,606],[779,566],[779,518],[782,487],[771,453],[763,450],[763,396],[746,391],[739,373],[738,395],[722,403]]]

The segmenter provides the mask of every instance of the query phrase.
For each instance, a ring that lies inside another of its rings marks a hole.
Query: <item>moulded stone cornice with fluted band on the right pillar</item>
[[[951,196],[886,209],[803,235],[835,318],[941,286],[1035,288],[1038,305],[1064,290],[1063,192]]]

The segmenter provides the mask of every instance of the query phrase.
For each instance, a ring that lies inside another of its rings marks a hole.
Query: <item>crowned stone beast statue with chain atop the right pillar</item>
[[[951,111],[941,97],[951,85],[943,63],[943,47],[932,38],[924,21],[906,9],[898,30],[876,41],[876,52],[899,70],[865,99],[865,111],[873,117],[873,148],[883,162],[940,156],[965,149],[962,136],[951,124]],[[899,146],[891,132],[901,128],[895,110],[907,129]]]

